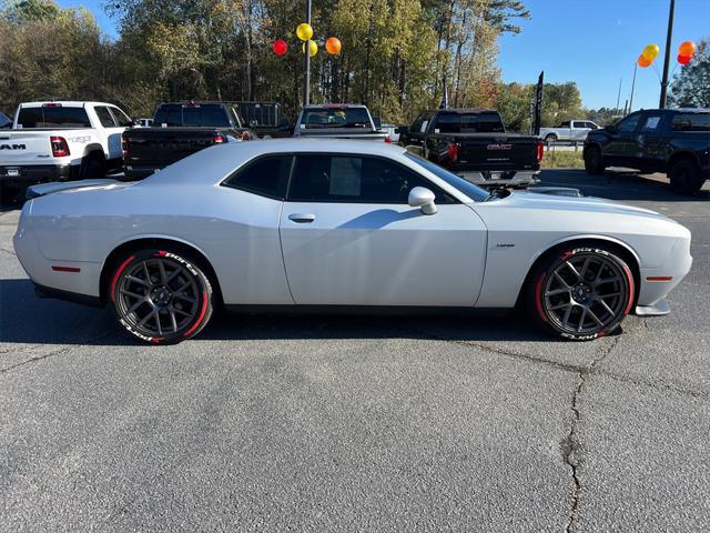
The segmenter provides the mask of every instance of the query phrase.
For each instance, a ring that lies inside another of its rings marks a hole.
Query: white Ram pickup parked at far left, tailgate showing
[[[21,103],[0,130],[0,185],[104,178],[123,164],[121,134],[132,125],[110,103]]]

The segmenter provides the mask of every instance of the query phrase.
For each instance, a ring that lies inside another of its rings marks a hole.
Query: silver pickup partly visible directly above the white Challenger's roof
[[[304,105],[293,137],[392,142],[369,110],[353,103]]]

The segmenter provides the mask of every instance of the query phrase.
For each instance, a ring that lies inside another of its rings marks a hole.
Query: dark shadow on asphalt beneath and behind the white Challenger
[[[422,314],[290,314],[220,312],[200,341],[286,339],[435,339],[550,342],[518,313],[432,311]],[[40,299],[27,279],[0,280],[0,342],[19,344],[141,345],[110,309]],[[566,341],[560,341],[566,342]]]

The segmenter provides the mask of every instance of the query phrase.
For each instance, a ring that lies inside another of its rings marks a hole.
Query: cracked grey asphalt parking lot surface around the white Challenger
[[[143,346],[39,300],[0,212],[0,531],[708,531],[710,183],[545,171],[694,264],[589,343],[518,316],[227,315]]]

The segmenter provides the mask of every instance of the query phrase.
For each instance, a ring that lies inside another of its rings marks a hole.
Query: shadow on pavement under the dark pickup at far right
[[[623,202],[640,200],[653,202],[710,201],[710,181],[696,194],[673,192],[663,174],[639,175],[626,169],[607,170],[602,175],[589,175],[585,170],[542,170],[540,185],[572,187],[587,197],[600,197]]]

